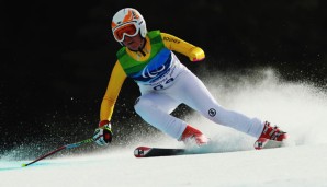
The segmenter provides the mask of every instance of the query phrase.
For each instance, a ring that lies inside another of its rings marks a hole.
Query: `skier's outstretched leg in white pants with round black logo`
[[[192,72],[185,71],[179,79],[180,94],[178,100],[200,112],[216,124],[232,127],[247,135],[258,138],[263,129],[263,124],[257,118],[249,118],[240,113],[225,109],[211,95],[206,86]],[[184,94],[187,93],[187,94]]]

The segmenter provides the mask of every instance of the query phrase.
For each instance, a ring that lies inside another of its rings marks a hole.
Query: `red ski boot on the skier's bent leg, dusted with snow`
[[[192,126],[187,126],[183,131],[180,141],[183,141],[187,145],[204,145],[208,143],[208,139],[198,129]]]

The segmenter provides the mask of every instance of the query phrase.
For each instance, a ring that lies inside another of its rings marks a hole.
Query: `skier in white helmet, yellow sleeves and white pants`
[[[187,144],[202,145],[208,139],[188,122],[170,115],[182,103],[216,124],[258,138],[256,149],[260,149],[264,141],[286,138],[285,132],[268,121],[225,109],[173,54],[185,55],[193,62],[201,61],[205,55],[200,47],[160,31],[148,32],[142,14],[132,8],[116,12],[111,26],[115,40],[123,47],[116,54],[117,60],[101,103],[100,122],[93,136],[98,144],[104,145],[112,140],[111,117],[127,77],[138,84],[142,93],[135,102],[136,113],[146,122]]]

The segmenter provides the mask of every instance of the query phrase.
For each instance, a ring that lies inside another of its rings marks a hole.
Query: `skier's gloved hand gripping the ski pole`
[[[99,122],[99,127],[95,129],[93,140],[99,145],[109,144],[112,140],[111,122],[102,120]]]

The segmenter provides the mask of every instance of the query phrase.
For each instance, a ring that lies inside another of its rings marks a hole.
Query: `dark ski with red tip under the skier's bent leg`
[[[135,157],[155,157],[188,154],[185,149],[138,147],[134,150]],[[189,153],[190,154],[190,153]]]

